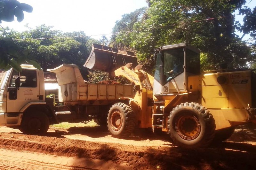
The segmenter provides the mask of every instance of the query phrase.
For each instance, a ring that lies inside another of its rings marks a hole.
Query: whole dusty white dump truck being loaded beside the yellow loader
[[[93,49],[91,56],[109,55],[121,66],[128,58],[137,62],[136,57],[126,51]],[[113,49],[115,50],[115,49]],[[101,54],[101,51],[105,53]],[[126,57],[126,58],[124,58]],[[116,65],[115,65],[116,66]],[[43,134],[50,124],[60,122],[88,122],[107,125],[107,114],[112,104],[122,97],[134,97],[133,85],[93,84],[84,81],[78,67],[63,64],[48,70],[56,73],[59,84],[61,106],[53,106],[53,98],[45,97],[44,72],[32,65],[21,65],[22,72],[13,68],[4,73],[0,83],[0,126],[18,128],[26,134]],[[108,68],[110,68],[109,65]],[[118,121],[118,120],[116,120]]]

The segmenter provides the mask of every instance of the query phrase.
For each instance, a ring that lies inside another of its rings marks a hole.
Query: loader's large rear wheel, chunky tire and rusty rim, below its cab
[[[173,142],[184,148],[208,146],[215,134],[212,114],[198,103],[182,103],[168,117],[168,132]]]

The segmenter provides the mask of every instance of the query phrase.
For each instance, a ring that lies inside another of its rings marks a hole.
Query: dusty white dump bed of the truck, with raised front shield
[[[111,104],[120,97],[134,97],[132,85],[93,84],[84,81],[78,67],[62,64],[47,71],[56,73],[60,102]],[[72,105],[72,103],[70,103]]]

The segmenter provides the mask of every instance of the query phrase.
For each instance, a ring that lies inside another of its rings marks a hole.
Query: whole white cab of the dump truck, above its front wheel
[[[21,67],[21,72],[13,68],[6,71],[0,83],[0,126],[18,126],[30,105],[45,104],[43,70]]]

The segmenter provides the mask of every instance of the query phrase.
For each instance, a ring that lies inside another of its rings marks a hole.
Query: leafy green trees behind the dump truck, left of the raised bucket
[[[0,33],[8,33],[18,49],[29,49],[30,58],[36,60],[44,70],[63,63],[76,64],[87,79],[88,70],[83,64],[90,54],[92,43],[99,41],[86,36],[83,31],[62,33],[46,25],[37,26],[35,29],[29,28],[23,32],[8,27],[4,29],[6,32],[0,29]],[[22,63],[28,62],[23,60]]]

